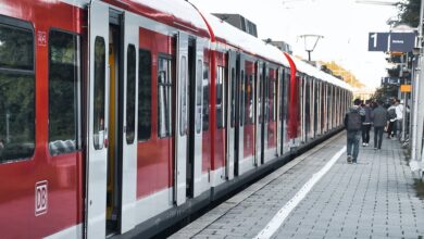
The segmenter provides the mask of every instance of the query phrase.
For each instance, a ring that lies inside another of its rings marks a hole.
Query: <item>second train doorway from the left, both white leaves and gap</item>
[[[174,168],[177,205],[195,197],[195,179],[201,174],[203,53],[200,51],[203,51],[203,45],[200,42],[178,33]]]

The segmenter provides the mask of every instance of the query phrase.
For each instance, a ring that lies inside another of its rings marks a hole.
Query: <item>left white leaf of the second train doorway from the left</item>
[[[186,167],[188,137],[188,35],[177,35],[176,61],[176,108],[175,108],[175,158],[174,158],[174,202],[186,202]]]

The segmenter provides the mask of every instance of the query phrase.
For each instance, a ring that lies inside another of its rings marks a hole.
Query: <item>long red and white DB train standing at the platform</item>
[[[0,2],[1,238],[149,237],[339,129],[352,97],[187,1]]]

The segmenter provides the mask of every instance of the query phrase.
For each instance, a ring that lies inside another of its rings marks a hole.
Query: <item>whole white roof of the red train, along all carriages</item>
[[[84,7],[89,0],[61,0],[71,4]],[[220,20],[219,17],[198,11],[197,7],[185,0],[160,1],[160,0],[101,0],[113,5],[122,7],[128,11],[136,12],[158,22],[171,22],[176,27],[189,29],[191,32],[209,33],[215,36],[219,42],[224,42],[250,53],[263,58],[276,64],[289,67],[289,62],[278,48],[265,43],[263,40],[253,37],[237,27]],[[207,12],[207,11],[204,11]],[[203,20],[204,17],[204,20]],[[207,25],[207,22],[210,28]],[[210,33],[212,30],[213,33]],[[320,78],[333,85],[351,90],[351,87],[345,81],[328,75],[303,61],[292,58],[297,71]]]

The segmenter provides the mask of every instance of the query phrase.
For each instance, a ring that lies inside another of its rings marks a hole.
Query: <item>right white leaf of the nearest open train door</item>
[[[122,194],[121,234],[135,226],[135,204],[137,191],[137,96],[138,96],[138,24],[136,15],[123,14],[124,80],[122,87]]]

